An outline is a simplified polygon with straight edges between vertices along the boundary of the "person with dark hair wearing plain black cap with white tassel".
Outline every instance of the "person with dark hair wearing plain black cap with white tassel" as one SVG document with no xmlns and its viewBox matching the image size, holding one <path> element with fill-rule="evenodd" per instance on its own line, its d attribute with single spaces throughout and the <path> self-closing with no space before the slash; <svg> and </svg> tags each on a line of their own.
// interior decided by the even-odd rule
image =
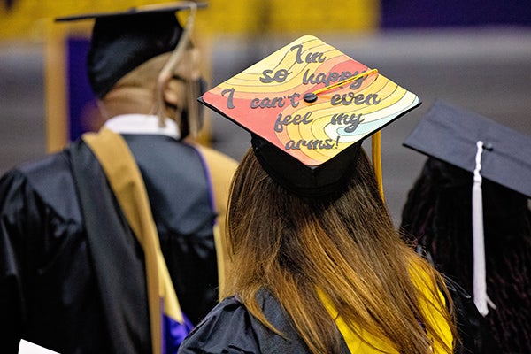
<svg viewBox="0 0 531 354">
<path fill-rule="evenodd" d="M 438 100 L 404 145 L 428 157 L 404 235 L 473 296 L 501 352 L 531 352 L 531 138 Z"/>
</svg>

